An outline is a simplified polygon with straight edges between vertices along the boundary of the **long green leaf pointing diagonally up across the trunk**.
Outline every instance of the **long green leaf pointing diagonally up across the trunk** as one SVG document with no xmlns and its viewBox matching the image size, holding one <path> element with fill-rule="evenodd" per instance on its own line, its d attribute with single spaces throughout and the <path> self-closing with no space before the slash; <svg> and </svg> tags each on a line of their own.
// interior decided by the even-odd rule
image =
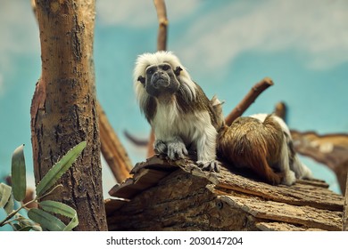
<svg viewBox="0 0 348 249">
<path fill-rule="evenodd" d="M 37 184 L 37 197 L 41 197 L 48 189 L 54 186 L 54 183 L 70 168 L 82 150 L 86 148 L 86 144 L 86 141 L 81 141 L 46 173 L 44 178 Z"/>
</svg>

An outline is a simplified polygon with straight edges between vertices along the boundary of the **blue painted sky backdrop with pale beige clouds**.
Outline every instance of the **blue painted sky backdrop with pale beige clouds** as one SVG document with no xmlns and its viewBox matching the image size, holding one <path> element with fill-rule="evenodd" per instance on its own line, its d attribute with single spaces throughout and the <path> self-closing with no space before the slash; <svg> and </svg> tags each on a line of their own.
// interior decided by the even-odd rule
<svg viewBox="0 0 348 249">
<path fill-rule="evenodd" d="M 2 0 L 0 8 L 0 177 L 10 173 L 12 151 L 26 144 L 33 185 L 29 108 L 40 76 L 36 20 L 28 0 Z M 168 49 L 175 52 L 208 97 L 236 106 L 263 77 L 275 85 L 245 115 L 271 112 L 282 100 L 290 128 L 347 133 L 348 2 L 168 0 Z M 137 55 L 154 52 L 157 16 L 150 0 L 96 1 L 97 98 L 133 163 L 145 159 L 123 132 L 146 139 L 150 128 L 134 98 Z M 314 176 L 339 192 L 334 173 L 302 157 Z M 114 185 L 104 166 L 104 192 Z"/>
</svg>

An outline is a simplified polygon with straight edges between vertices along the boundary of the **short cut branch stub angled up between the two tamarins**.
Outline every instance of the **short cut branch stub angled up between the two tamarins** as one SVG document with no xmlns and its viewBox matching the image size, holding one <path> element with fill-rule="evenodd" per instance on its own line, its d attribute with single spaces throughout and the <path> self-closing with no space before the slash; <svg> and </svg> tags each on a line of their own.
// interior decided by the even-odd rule
<svg viewBox="0 0 348 249">
<path fill-rule="evenodd" d="M 248 94 L 244 97 L 242 101 L 239 102 L 239 104 L 234 108 L 226 117 L 225 122 L 229 126 L 233 123 L 233 121 L 236 120 L 238 116 L 242 116 L 244 111 L 249 108 L 253 101 L 256 100 L 256 98 L 269 88 L 269 86 L 273 85 L 273 81 L 269 77 L 265 77 L 261 80 L 261 82 L 255 84 L 253 88 L 248 92 Z"/>
</svg>

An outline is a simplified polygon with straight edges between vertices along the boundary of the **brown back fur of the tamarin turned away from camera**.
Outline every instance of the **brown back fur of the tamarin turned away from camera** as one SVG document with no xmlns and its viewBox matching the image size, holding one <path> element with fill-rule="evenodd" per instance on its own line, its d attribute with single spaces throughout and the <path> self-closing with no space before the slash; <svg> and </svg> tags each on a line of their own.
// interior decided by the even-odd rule
<svg viewBox="0 0 348 249">
<path fill-rule="evenodd" d="M 265 121 L 238 117 L 224 126 L 218 135 L 218 156 L 236 167 L 248 167 L 270 184 L 279 184 L 283 173 L 277 173 L 284 134 L 272 116 Z"/>
</svg>

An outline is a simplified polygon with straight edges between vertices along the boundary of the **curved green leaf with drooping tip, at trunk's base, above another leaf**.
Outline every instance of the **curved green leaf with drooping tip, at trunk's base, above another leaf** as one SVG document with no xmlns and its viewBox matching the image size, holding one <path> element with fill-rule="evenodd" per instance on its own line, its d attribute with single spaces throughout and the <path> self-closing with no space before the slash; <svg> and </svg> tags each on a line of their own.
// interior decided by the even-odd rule
<svg viewBox="0 0 348 249">
<path fill-rule="evenodd" d="M 69 224 L 65 227 L 65 229 L 63 229 L 64 231 L 70 231 L 79 225 L 78 213 L 76 213 L 75 209 L 69 205 L 56 201 L 43 201 L 40 202 L 40 206 L 47 212 L 62 214 L 63 216 L 71 219 Z"/>
</svg>

